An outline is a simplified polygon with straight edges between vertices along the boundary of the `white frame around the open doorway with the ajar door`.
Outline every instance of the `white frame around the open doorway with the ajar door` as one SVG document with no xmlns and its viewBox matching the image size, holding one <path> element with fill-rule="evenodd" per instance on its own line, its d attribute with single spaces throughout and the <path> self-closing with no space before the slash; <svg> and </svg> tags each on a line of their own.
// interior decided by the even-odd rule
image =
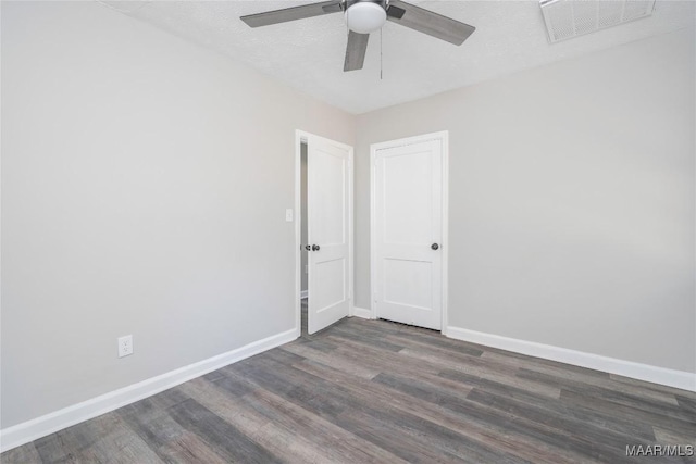
<svg viewBox="0 0 696 464">
<path fill-rule="evenodd" d="M 302 143 L 307 143 L 309 137 L 324 139 L 333 145 L 339 146 L 348 150 L 348 315 L 352 316 L 353 309 L 353 148 L 349 145 L 340 143 L 335 140 L 326 139 L 303 130 L 295 130 L 295 333 L 297 337 L 302 335 Z M 309 150 L 308 150 L 309 151 Z M 308 160 L 309 163 L 309 160 Z M 309 192 L 308 192 L 309 193 Z M 309 202 L 309 198 L 308 198 Z M 309 217 L 308 217 L 309 221 Z M 310 294 L 309 298 L 312 298 Z"/>
</svg>

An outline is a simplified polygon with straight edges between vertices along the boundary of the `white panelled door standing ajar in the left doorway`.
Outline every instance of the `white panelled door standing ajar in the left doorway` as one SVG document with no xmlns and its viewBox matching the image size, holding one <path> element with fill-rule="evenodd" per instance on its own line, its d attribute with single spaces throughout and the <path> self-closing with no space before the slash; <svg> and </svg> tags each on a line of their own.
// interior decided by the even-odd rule
<svg viewBox="0 0 696 464">
<path fill-rule="evenodd" d="M 307 331 L 313 334 L 350 313 L 352 148 L 308 136 L 307 149 Z"/>
</svg>

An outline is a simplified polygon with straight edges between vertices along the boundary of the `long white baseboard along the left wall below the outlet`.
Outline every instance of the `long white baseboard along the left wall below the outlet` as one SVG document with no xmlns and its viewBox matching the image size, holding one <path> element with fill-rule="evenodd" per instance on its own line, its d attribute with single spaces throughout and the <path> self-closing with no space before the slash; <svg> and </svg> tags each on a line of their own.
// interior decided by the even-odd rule
<svg viewBox="0 0 696 464">
<path fill-rule="evenodd" d="M 46 437 L 58 430 L 73 426 L 80 422 L 97 417 L 110 411 L 151 397 L 187 380 L 212 371 L 236 363 L 254 354 L 293 341 L 297 338 L 297 330 L 291 329 L 262 340 L 254 341 L 226 353 L 199 361 L 194 364 L 167 372 L 157 377 L 129 385 L 119 390 L 110 391 L 87 401 L 64 407 L 44 416 L 14 425 L 0 430 L 0 452 L 28 443 Z"/>
</svg>

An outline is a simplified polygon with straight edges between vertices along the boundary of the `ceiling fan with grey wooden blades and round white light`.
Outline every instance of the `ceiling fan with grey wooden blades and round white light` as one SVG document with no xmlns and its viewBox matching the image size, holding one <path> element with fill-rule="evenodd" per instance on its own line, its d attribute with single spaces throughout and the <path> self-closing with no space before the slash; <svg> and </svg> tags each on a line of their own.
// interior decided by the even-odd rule
<svg viewBox="0 0 696 464">
<path fill-rule="evenodd" d="M 370 33 L 381 29 L 387 20 L 456 46 L 462 45 L 476 29 L 400 0 L 331 0 L 249 14 L 240 20 L 251 27 L 260 27 L 339 12 L 344 13 L 349 29 L 344 71 L 362 70 Z"/>
</svg>

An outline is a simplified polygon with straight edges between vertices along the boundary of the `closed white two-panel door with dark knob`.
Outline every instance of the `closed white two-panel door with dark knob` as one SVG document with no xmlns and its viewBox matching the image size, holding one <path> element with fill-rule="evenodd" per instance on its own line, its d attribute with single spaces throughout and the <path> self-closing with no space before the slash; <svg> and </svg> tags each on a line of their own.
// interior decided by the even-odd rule
<svg viewBox="0 0 696 464">
<path fill-rule="evenodd" d="M 443 327 L 443 139 L 373 148 L 376 316 Z"/>
</svg>

